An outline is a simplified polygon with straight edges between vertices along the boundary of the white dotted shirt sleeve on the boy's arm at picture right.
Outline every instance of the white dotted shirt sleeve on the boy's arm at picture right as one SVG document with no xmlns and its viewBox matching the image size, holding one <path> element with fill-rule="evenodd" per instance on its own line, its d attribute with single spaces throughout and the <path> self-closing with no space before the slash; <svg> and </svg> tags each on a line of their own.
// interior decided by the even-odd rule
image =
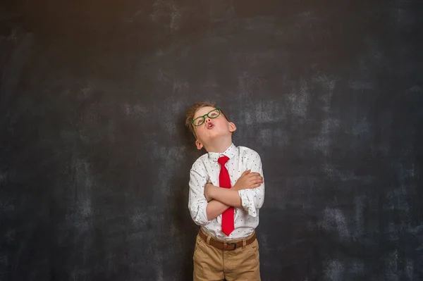
<svg viewBox="0 0 423 281">
<path fill-rule="evenodd" d="M 252 160 L 247 162 L 247 170 L 251 170 L 251 173 L 259 173 L 264 178 L 262 160 L 259 154 L 252 156 Z M 259 187 L 253 189 L 240 189 L 238 190 L 238 194 L 240 195 L 241 204 L 244 210 L 248 212 L 248 215 L 256 217 L 257 210 L 262 208 L 264 203 L 264 181 Z"/>
</svg>

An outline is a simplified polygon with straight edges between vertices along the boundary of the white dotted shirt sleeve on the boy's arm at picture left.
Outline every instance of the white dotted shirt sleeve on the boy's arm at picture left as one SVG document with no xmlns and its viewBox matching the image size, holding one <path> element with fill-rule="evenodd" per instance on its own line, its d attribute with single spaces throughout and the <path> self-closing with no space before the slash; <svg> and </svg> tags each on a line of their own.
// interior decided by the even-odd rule
<svg viewBox="0 0 423 281">
<path fill-rule="evenodd" d="M 191 218 L 197 225 L 207 225 L 207 199 L 204 196 L 204 185 L 207 183 L 207 174 L 200 165 L 194 163 L 190 171 L 190 193 L 188 208 Z"/>
</svg>

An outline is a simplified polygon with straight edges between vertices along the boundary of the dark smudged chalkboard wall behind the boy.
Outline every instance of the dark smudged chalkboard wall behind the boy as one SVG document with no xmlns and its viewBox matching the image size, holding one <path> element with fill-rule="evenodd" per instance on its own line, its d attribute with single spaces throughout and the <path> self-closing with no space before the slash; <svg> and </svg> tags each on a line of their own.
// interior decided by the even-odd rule
<svg viewBox="0 0 423 281">
<path fill-rule="evenodd" d="M 202 99 L 262 156 L 263 280 L 423 280 L 422 1 L 0 10 L 0 280 L 192 279 Z"/>
</svg>

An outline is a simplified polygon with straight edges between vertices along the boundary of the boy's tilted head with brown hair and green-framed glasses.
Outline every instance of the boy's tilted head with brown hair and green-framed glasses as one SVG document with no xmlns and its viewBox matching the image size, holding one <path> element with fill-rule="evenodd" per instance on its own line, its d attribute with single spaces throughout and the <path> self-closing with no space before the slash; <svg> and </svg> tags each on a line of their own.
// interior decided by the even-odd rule
<svg viewBox="0 0 423 281">
<path fill-rule="evenodd" d="M 209 101 L 193 104 L 186 112 L 185 125 L 194 134 L 197 149 L 204 147 L 207 151 L 231 145 L 232 133 L 236 130 L 235 124 Z"/>
</svg>

